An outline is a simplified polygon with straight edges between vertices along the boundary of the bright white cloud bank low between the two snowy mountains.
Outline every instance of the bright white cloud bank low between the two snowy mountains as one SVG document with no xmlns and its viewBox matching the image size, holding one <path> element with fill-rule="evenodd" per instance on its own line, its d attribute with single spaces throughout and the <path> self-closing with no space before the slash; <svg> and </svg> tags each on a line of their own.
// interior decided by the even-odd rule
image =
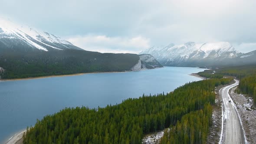
<svg viewBox="0 0 256 144">
<path fill-rule="evenodd" d="M 85 35 L 70 37 L 68 41 L 82 49 L 97 52 L 138 53 L 150 47 L 150 40 L 141 36 L 128 38 Z"/>
</svg>

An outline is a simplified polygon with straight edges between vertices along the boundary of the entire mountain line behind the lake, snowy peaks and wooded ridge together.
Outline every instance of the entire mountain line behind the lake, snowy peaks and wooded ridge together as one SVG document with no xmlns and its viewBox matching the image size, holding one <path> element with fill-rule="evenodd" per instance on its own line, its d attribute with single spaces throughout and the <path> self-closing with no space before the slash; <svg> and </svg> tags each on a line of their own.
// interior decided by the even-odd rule
<svg viewBox="0 0 256 144">
<path fill-rule="evenodd" d="M 0 75 L 6 79 L 136 71 L 162 65 L 207 68 L 247 65 L 256 63 L 255 55 L 256 51 L 239 52 L 228 42 L 171 43 L 153 46 L 139 55 L 90 52 L 59 36 L 0 18 Z"/>
</svg>

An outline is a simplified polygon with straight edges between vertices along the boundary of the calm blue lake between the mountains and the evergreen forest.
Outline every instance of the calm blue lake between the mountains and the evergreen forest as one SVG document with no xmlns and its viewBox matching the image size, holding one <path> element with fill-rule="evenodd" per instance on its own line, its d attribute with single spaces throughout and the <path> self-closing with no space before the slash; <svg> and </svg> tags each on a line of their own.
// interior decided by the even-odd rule
<svg viewBox="0 0 256 144">
<path fill-rule="evenodd" d="M 190 73 L 204 69 L 164 67 L 138 72 L 96 73 L 0 82 L 0 143 L 34 125 L 36 119 L 65 107 L 105 107 L 145 93 L 171 92 L 186 82 L 198 81 Z"/>
</svg>

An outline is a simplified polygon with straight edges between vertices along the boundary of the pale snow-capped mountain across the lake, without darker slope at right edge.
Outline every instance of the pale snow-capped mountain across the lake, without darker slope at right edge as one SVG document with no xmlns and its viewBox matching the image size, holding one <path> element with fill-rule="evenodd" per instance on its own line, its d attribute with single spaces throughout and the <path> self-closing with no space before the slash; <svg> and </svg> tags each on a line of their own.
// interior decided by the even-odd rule
<svg viewBox="0 0 256 144">
<path fill-rule="evenodd" d="M 171 43 L 162 48 L 153 46 L 140 54 L 151 54 L 165 66 L 201 66 L 197 63 L 216 62 L 242 55 L 228 42 L 188 42 L 181 45 Z"/>
</svg>

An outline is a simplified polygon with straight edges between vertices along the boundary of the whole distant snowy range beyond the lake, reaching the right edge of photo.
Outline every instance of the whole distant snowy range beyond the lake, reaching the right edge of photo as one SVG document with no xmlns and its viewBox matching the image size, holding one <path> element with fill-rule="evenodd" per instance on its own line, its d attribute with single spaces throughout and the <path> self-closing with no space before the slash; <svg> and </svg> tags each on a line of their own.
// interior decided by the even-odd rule
<svg viewBox="0 0 256 144">
<path fill-rule="evenodd" d="M 213 67 L 242 65 L 255 61 L 255 52 L 243 54 L 228 42 L 188 42 L 181 45 L 153 46 L 140 54 L 151 54 L 164 66 Z"/>
</svg>

